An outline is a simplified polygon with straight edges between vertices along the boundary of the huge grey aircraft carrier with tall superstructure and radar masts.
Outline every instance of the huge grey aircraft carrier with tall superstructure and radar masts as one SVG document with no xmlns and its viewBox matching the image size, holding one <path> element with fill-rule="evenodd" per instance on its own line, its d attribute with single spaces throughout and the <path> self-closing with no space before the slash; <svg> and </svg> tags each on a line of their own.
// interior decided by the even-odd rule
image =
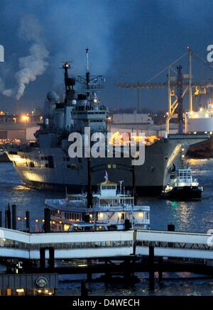
<svg viewBox="0 0 213 310">
<path fill-rule="evenodd" d="M 13 145 L 6 150 L 9 159 L 23 182 L 38 189 L 55 189 L 81 192 L 87 189 L 87 158 L 70 158 L 68 136 L 72 132 L 84 133 L 89 126 L 91 133 L 107 135 L 108 109 L 100 104 L 97 90 L 104 78 L 89 73 L 88 50 L 85 76 L 70 77 L 70 64 L 63 65 L 65 99 L 61 102 L 55 92 L 49 92 L 45 101 L 44 121 L 35 133 L 35 143 Z M 75 84 L 84 86 L 77 94 Z M 207 140 L 208 135 L 168 135 L 151 145 L 146 145 L 145 162 L 135 166 L 133 176 L 131 157 L 92 158 L 92 189 L 102 182 L 104 170 L 114 182 L 124 181 L 131 188 L 135 177 L 138 195 L 159 194 L 168 184 L 170 172 L 179 166 L 190 145 Z M 99 169 L 95 169 L 99 167 Z"/>
</svg>

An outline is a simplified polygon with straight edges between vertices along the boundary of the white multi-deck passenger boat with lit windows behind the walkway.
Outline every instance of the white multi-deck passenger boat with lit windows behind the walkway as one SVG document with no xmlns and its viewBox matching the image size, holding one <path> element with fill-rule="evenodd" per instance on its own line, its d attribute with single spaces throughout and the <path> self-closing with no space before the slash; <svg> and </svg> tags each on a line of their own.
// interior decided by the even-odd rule
<svg viewBox="0 0 213 310">
<path fill-rule="evenodd" d="M 87 194 L 66 194 L 65 199 L 46 199 L 50 209 L 51 231 L 112 231 L 150 227 L 150 206 L 134 203 L 134 196 L 121 181 L 105 181 L 92 194 L 92 208 Z"/>
</svg>

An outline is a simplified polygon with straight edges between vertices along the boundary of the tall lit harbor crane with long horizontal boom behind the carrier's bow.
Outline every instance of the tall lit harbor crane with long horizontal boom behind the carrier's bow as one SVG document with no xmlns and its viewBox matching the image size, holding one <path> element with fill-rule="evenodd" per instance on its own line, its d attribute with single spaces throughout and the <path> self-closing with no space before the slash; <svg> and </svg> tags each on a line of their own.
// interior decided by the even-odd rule
<svg viewBox="0 0 213 310">
<path fill-rule="evenodd" d="M 140 89 L 168 89 L 168 112 L 166 114 L 166 131 L 170 132 L 170 119 L 178 116 L 178 128 L 179 133 L 182 133 L 183 127 L 183 98 L 186 94 L 189 94 L 189 111 L 193 111 L 193 96 L 199 96 L 200 94 L 207 94 L 207 89 L 213 88 L 212 82 L 194 82 L 192 80 L 192 55 L 198 60 L 202 61 L 204 65 L 207 65 L 210 69 L 213 69 L 209 62 L 205 61 L 197 55 L 197 53 L 192 52 L 190 47 L 187 47 L 187 52 L 182 56 L 178 57 L 170 65 L 165 67 L 163 70 L 155 74 L 154 77 L 148 80 L 148 82 L 137 82 L 137 83 L 117 83 L 116 87 L 126 88 L 126 89 L 137 89 L 138 90 L 138 110 L 140 101 Z M 183 57 L 188 57 L 188 67 L 189 72 L 187 74 L 182 74 L 181 66 L 177 67 L 177 70 L 173 68 L 177 62 L 179 62 Z M 166 82 L 153 82 L 153 79 L 158 77 L 165 71 L 168 71 Z M 175 72 L 175 76 L 171 75 L 171 71 Z M 180 96 L 181 92 L 181 96 Z"/>
</svg>

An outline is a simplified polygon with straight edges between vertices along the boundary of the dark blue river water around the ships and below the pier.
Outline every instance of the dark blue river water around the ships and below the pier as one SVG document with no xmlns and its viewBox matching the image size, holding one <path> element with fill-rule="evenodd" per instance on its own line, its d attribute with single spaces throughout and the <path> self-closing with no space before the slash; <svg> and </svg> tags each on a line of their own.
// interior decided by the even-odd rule
<svg viewBox="0 0 213 310">
<path fill-rule="evenodd" d="M 190 231 L 206 233 L 213 228 L 213 159 L 188 160 L 194 177 L 204 187 L 202 201 L 176 202 L 166 201 L 157 197 L 142 197 L 138 203 L 151 206 L 151 229 L 166 230 L 168 223 L 175 224 L 175 231 Z M 18 227 L 24 228 L 26 210 L 31 214 L 32 229 L 40 228 L 43 219 L 44 200 L 62 198 L 62 192 L 47 192 L 29 189 L 24 185 L 13 170 L 11 163 L 0 163 L 0 209 L 3 211 L 8 203 L 17 205 Z M 209 295 L 213 294 L 213 283 L 210 279 L 182 275 L 164 275 L 161 284 L 156 283 L 155 291 L 148 289 L 147 275 L 138 277 L 136 284 L 105 284 L 103 282 L 90 282 L 89 294 L 96 295 Z M 57 294 L 80 294 L 80 279 L 75 276 L 60 276 Z"/>
</svg>

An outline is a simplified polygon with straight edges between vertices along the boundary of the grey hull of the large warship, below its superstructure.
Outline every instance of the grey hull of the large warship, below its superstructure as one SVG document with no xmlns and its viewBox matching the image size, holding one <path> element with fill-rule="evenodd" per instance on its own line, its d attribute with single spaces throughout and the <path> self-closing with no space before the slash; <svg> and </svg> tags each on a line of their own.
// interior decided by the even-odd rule
<svg viewBox="0 0 213 310">
<path fill-rule="evenodd" d="M 168 184 L 170 171 L 180 165 L 190 145 L 206 140 L 207 135 L 170 135 L 146 146 L 145 162 L 135 166 L 136 192 L 138 196 L 158 195 Z M 45 147 L 18 147 L 6 150 L 9 159 L 29 187 L 37 189 L 69 190 L 81 192 L 87 190 L 87 158 L 70 158 L 68 141 L 63 147 L 51 148 L 48 135 Z M 44 145 L 44 144 L 43 144 Z M 105 170 L 114 182 L 124 181 L 126 189 L 131 189 L 133 174 L 131 158 L 92 158 L 92 189 L 102 182 Z"/>
</svg>

